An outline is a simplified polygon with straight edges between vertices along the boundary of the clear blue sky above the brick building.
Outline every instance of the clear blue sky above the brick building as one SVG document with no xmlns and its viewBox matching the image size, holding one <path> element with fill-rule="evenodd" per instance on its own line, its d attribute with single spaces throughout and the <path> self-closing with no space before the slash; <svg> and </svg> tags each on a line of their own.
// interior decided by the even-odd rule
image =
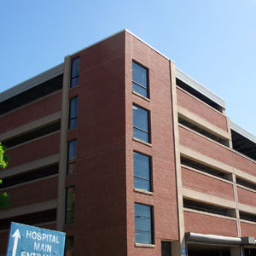
<svg viewBox="0 0 256 256">
<path fill-rule="evenodd" d="M 256 0 L 10 0 L 0 3 L 0 91 L 123 28 L 226 102 L 256 135 Z"/>
</svg>

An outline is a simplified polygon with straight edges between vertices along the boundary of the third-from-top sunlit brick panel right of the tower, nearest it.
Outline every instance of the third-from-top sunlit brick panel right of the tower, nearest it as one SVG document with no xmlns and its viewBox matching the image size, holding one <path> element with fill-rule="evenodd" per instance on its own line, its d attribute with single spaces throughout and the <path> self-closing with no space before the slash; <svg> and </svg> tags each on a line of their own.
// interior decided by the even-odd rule
<svg viewBox="0 0 256 256">
<path fill-rule="evenodd" d="M 182 167 L 183 187 L 234 201 L 233 185 Z"/>
</svg>

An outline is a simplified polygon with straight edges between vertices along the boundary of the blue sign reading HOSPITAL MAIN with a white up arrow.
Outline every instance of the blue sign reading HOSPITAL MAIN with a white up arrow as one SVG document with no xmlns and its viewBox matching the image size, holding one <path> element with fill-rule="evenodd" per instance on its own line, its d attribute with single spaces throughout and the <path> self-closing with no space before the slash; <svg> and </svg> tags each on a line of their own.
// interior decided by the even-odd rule
<svg viewBox="0 0 256 256">
<path fill-rule="evenodd" d="M 7 256 L 63 256 L 66 234 L 11 223 Z"/>
</svg>

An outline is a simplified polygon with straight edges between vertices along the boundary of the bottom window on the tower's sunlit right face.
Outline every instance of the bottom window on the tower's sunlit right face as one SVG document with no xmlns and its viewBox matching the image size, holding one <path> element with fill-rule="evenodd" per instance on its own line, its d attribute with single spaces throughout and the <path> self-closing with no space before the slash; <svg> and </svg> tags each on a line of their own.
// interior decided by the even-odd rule
<svg viewBox="0 0 256 256">
<path fill-rule="evenodd" d="M 153 208 L 135 203 L 135 241 L 153 244 Z"/>
</svg>

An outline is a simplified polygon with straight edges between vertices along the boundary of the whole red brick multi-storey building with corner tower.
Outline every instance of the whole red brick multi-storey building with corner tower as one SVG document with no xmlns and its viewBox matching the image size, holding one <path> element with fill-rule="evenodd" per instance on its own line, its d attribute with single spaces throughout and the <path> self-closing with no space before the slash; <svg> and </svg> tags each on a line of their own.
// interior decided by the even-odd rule
<svg viewBox="0 0 256 256">
<path fill-rule="evenodd" d="M 0 94 L 10 221 L 67 255 L 256 255 L 256 137 L 126 30 Z"/>
</svg>

